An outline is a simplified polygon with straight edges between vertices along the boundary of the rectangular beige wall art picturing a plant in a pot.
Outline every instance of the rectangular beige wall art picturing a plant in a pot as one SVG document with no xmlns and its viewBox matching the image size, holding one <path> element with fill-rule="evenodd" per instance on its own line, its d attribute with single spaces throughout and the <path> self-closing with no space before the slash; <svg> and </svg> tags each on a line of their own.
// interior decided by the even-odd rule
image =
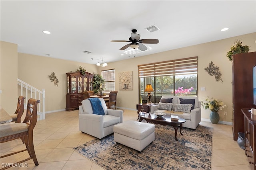
<svg viewBox="0 0 256 170">
<path fill-rule="evenodd" d="M 132 90 L 132 71 L 120 72 L 119 78 L 119 90 Z"/>
</svg>

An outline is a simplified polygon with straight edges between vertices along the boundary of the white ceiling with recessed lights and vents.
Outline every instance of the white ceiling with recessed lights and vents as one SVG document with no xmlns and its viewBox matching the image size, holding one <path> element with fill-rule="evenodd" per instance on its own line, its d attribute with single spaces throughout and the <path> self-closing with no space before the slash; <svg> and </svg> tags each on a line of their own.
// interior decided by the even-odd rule
<svg viewBox="0 0 256 170">
<path fill-rule="evenodd" d="M 0 39 L 18 44 L 19 53 L 90 64 L 97 63 L 91 58 L 107 63 L 133 58 L 121 56 L 126 42 L 110 42 L 128 40 L 132 29 L 140 39 L 159 39 L 144 44 L 152 49 L 135 57 L 256 32 L 255 0 L 1 0 L 0 6 Z M 148 32 L 151 25 L 160 30 Z M 228 31 L 220 31 L 224 27 Z"/>
</svg>

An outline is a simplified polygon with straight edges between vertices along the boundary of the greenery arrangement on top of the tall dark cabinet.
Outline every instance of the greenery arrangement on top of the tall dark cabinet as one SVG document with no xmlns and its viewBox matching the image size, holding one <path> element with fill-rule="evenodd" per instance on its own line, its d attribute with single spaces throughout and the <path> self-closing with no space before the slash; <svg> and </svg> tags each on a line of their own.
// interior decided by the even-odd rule
<svg viewBox="0 0 256 170">
<path fill-rule="evenodd" d="M 227 53 L 227 57 L 229 61 L 233 60 L 232 55 L 234 54 L 240 54 L 240 53 L 248 53 L 249 52 L 249 46 L 242 45 L 242 42 L 240 42 L 240 39 L 236 39 L 234 42 L 234 45 L 231 46 L 230 50 Z"/>
</svg>

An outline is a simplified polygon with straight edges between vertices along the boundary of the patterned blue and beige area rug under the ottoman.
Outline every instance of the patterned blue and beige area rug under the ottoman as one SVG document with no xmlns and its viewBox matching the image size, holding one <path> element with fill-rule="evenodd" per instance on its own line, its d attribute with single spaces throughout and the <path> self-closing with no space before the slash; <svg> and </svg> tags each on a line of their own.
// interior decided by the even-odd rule
<svg viewBox="0 0 256 170">
<path fill-rule="evenodd" d="M 114 142 L 114 135 L 94 139 L 79 147 L 76 152 L 107 170 L 188 170 L 211 169 L 211 127 L 199 125 L 196 130 L 156 125 L 155 140 L 141 153 Z"/>
</svg>

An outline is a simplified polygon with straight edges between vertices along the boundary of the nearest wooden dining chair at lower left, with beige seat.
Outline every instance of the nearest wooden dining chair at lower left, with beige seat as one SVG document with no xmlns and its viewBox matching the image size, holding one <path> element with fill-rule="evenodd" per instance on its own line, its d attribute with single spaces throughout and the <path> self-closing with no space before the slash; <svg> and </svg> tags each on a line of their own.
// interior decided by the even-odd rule
<svg viewBox="0 0 256 170">
<path fill-rule="evenodd" d="M 26 158 L 25 160 L 21 160 L 19 162 L 13 163 L 13 164 L 20 164 L 27 160 L 33 159 L 34 164 L 36 166 L 38 165 L 36 153 L 34 150 L 34 143 L 33 143 L 33 129 L 36 126 L 36 122 L 37 122 L 37 105 L 38 105 L 38 103 L 40 103 L 40 100 L 35 100 L 32 98 L 28 100 L 26 116 L 22 123 L 9 123 L 9 124 L 1 125 L 0 143 L 8 142 L 13 139 L 23 137 L 24 141 L 25 141 L 26 149 L 0 156 L 0 158 L 11 156 L 13 154 L 17 154 L 17 153 L 24 152 L 27 150 L 30 157 Z M 10 166 L 1 168 L 1 170 L 10 168 L 11 165 L 12 164 L 10 164 Z"/>
</svg>

